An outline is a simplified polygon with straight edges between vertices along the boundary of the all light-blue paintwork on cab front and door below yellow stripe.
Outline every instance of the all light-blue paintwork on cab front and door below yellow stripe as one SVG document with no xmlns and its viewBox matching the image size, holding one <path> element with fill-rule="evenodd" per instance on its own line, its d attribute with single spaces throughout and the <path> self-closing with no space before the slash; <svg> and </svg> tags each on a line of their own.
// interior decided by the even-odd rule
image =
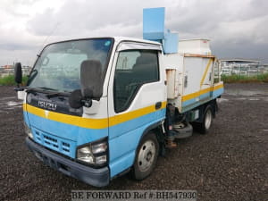
<svg viewBox="0 0 268 201">
<path fill-rule="evenodd" d="M 24 115 L 26 114 L 24 113 Z M 109 164 L 111 177 L 126 170 L 133 164 L 138 142 L 144 130 L 155 122 L 163 120 L 164 116 L 165 109 L 162 109 L 110 128 Z M 73 158 L 75 157 L 77 146 L 108 136 L 108 129 L 84 129 L 58 121 L 51 121 L 32 113 L 28 113 L 28 118 L 36 142 Z M 64 150 L 64 143 L 70 144 L 69 151 Z"/>
</svg>

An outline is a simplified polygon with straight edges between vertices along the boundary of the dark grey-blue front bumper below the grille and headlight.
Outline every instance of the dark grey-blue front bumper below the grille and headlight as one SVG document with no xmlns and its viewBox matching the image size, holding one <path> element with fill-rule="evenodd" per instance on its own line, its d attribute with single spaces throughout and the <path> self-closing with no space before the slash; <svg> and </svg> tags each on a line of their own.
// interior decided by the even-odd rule
<svg viewBox="0 0 268 201">
<path fill-rule="evenodd" d="M 62 155 L 55 154 L 45 147 L 39 146 L 28 137 L 26 138 L 26 145 L 41 161 L 59 172 L 63 172 L 95 187 L 104 187 L 109 184 L 110 172 L 108 167 L 95 169 L 76 163 Z"/>
</svg>

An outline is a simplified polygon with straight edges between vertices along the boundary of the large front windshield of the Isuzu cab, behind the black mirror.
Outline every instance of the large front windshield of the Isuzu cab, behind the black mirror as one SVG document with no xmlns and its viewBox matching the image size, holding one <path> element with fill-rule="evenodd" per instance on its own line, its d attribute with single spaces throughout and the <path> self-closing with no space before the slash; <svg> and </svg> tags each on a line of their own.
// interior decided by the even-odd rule
<svg viewBox="0 0 268 201">
<path fill-rule="evenodd" d="M 80 64 L 98 60 L 102 78 L 112 50 L 112 38 L 93 38 L 60 42 L 46 46 L 29 75 L 30 88 L 71 92 L 80 88 Z"/>
</svg>

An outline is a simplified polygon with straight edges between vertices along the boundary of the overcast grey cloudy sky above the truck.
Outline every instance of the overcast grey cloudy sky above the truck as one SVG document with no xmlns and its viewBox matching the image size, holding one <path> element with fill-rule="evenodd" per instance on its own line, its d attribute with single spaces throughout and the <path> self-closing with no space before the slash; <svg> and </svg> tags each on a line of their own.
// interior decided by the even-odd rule
<svg viewBox="0 0 268 201">
<path fill-rule="evenodd" d="M 218 58 L 268 63 L 267 0 L 1 0 L 0 65 L 32 66 L 59 40 L 142 38 L 143 8 L 152 7 L 165 7 L 165 27 L 180 39 L 209 38 Z"/>
</svg>

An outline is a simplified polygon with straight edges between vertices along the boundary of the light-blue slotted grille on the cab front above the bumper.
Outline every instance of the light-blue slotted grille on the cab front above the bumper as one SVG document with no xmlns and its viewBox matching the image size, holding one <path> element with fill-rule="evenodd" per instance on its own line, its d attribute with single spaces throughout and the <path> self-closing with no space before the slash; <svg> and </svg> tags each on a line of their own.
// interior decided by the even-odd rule
<svg viewBox="0 0 268 201">
<path fill-rule="evenodd" d="M 41 130 L 33 129 L 34 139 L 44 147 L 53 149 L 63 155 L 75 157 L 75 142 L 65 138 L 59 138 L 45 133 Z"/>
</svg>

